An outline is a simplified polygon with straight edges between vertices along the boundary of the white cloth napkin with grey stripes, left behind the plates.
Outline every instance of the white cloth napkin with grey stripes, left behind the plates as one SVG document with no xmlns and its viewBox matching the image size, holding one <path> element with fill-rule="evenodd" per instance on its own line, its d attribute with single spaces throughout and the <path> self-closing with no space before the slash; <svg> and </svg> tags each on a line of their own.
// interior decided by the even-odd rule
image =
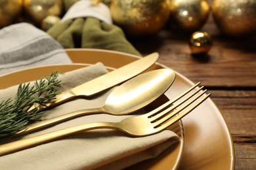
<svg viewBox="0 0 256 170">
<path fill-rule="evenodd" d="M 0 75 L 54 63 L 72 63 L 63 47 L 31 24 L 0 29 Z"/>
</svg>

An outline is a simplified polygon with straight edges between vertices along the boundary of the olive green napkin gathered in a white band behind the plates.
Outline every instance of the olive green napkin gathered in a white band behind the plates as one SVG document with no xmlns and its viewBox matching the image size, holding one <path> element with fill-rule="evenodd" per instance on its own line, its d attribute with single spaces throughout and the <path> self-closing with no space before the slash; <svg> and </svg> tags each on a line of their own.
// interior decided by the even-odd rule
<svg viewBox="0 0 256 170">
<path fill-rule="evenodd" d="M 62 22 L 47 31 L 64 48 L 100 48 L 141 56 L 123 31 L 112 24 L 106 5 L 95 6 L 90 0 L 80 0 L 74 5 L 72 2 L 64 0 L 68 11 Z"/>
</svg>

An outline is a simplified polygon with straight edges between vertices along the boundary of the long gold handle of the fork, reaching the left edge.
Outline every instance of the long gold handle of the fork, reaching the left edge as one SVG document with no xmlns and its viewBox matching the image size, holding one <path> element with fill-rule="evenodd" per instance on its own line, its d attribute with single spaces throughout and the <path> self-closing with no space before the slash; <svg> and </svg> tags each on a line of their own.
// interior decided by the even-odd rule
<svg viewBox="0 0 256 170">
<path fill-rule="evenodd" d="M 5 154 L 11 154 L 22 149 L 31 148 L 32 146 L 37 146 L 39 144 L 54 141 L 55 139 L 60 139 L 61 137 L 66 137 L 75 133 L 82 131 L 89 131 L 92 129 L 119 129 L 118 123 L 115 122 L 94 122 L 89 124 L 82 124 L 79 126 L 68 127 L 66 129 L 61 129 L 58 131 L 53 131 L 50 133 L 45 133 L 43 135 L 38 135 L 35 137 L 30 137 L 27 139 L 21 139 L 7 144 L 0 145 L 0 156 Z"/>
</svg>

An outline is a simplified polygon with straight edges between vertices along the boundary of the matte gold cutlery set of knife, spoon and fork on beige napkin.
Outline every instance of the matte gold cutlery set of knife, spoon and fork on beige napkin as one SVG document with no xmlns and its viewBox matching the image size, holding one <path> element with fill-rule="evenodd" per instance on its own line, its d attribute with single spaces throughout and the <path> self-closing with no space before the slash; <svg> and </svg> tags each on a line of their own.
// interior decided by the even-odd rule
<svg viewBox="0 0 256 170">
<path fill-rule="evenodd" d="M 171 69 L 157 69 L 140 74 L 153 65 L 158 57 L 157 53 L 150 54 L 115 71 L 111 71 L 106 75 L 99 76 L 85 84 L 81 84 L 72 90 L 62 92 L 60 95 L 56 96 L 56 101 L 53 101 L 52 105 L 47 105 L 47 107 L 40 109 L 49 109 L 54 105 L 59 105 L 60 103 L 81 95 L 90 97 L 124 82 L 112 90 L 103 107 L 77 110 L 43 120 L 31 124 L 24 129 L 24 131 L 16 133 L 16 135 L 22 135 L 43 127 L 58 124 L 77 116 L 96 113 L 125 115 L 142 109 L 158 99 L 160 95 L 163 95 L 175 80 L 175 72 Z M 199 84 L 200 83 L 195 84 L 177 97 L 163 103 L 163 105 L 154 110 L 148 111 L 146 114 L 131 116 L 120 122 L 93 122 L 82 124 L 27 139 L 20 139 L 11 143 L 1 144 L 0 156 L 92 129 L 117 129 L 137 137 L 160 133 L 186 116 L 186 114 L 198 107 L 198 105 L 209 97 L 209 93 L 207 95 L 205 94 L 207 90 L 202 90 L 203 86 L 198 87 Z M 37 106 L 35 105 L 34 107 Z"/>
</svg>

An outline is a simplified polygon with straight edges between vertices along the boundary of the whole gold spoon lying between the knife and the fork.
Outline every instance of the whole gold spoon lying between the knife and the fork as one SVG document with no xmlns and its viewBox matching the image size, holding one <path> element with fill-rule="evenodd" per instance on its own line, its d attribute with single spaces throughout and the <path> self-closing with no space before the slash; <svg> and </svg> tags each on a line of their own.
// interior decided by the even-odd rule
<svg viewBox="0 0 256 170">
<path fill-rule="evenodd" d="M 136 76 L 131 80 L 121 84 L 108 95 L 105 104 L 100 108 L 77 110 L 62 116 L 56 116 L 47 120 L 36 122 L 23 131 L 16 133 L 21 135 L 51 126 L 65 120 L 78 116 L 95 113 L 105 113 L 112 115 L 124 115 L 135 112 L 152 103 L 163 94 L 175 80 L 175 73 L 171 69 L 158 69 Z"/>
</svg>

